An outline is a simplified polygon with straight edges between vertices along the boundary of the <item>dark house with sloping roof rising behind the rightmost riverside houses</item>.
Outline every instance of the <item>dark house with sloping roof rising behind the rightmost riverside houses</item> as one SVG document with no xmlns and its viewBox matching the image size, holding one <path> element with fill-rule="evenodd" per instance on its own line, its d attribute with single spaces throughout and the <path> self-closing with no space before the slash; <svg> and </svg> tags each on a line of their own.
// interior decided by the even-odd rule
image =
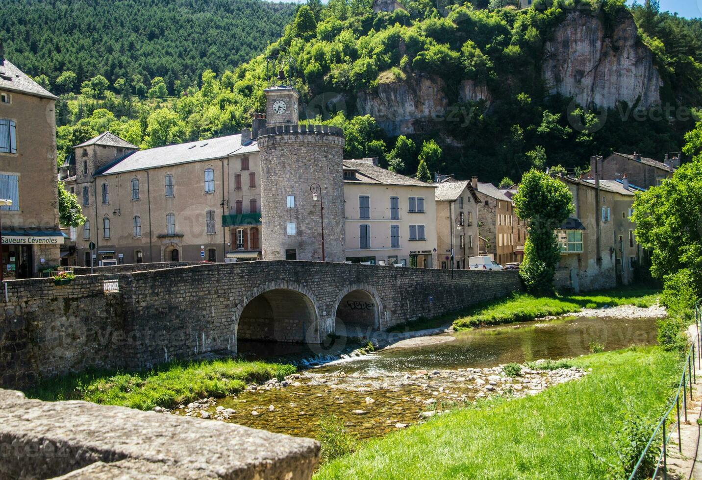
<svg viewBox="0 0 702 480">
<path fill-rule="evenodd" d="M 626 177 L 631 185 L 648 188 L 661 185 L 680 166 L 680 154 L 665 154 L 665 161 L 649 159 L 641 154 L 613 153 L 606 159 L 590 157 L 590 173 L 600 174 L 602 180 L 621 180 Z"/>
</svg>

